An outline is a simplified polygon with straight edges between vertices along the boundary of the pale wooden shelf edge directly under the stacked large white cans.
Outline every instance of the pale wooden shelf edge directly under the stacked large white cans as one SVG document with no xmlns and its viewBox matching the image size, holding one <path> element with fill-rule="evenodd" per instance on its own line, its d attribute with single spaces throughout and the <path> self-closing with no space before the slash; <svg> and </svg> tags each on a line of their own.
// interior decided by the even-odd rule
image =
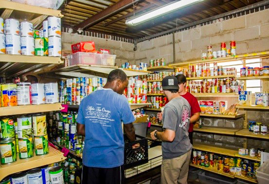
<svg viewBox="0 0 269 184">
<path fill-rule="evenodd" d="M 39 64 L 60 64 L 64 63 L 60 57 L 48 56 L 25 56 L 1 54 L 0 62 L 23 62 L 23 63 L 39 63 Z"/>
</svg>

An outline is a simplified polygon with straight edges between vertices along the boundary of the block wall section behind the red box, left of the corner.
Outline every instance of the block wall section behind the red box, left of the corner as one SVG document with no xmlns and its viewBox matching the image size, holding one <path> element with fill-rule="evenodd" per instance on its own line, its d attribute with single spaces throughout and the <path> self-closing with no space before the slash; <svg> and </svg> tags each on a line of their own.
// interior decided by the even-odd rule
<svg viewBox="0 0 269 184">
<path fill-rule="evenodd" d="M 71 50 L 71 44 L 80 41 L 94 41 L 97 50 L 100 48 L 109 49 L 111 54 L 117 55 L 115 63 L 130 62 L 134 64 L 134 44 L 123 41 L 113 41 L 109 39 L 95 38 L 78 34 L 62 33 L 63 50 Z"/>
</svg>

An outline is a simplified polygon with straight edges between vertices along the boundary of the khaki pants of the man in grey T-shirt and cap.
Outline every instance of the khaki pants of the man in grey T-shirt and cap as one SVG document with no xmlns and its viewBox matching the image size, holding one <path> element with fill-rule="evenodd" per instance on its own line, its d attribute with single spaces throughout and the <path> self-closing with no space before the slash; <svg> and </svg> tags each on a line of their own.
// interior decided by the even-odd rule
<svg viewBox="0 0 269 184">
<path fill-rule="evenodd" d="M 162 159 L 161 184 L 187 184 L 191 151 L 174 159 Z"/>
</svg>

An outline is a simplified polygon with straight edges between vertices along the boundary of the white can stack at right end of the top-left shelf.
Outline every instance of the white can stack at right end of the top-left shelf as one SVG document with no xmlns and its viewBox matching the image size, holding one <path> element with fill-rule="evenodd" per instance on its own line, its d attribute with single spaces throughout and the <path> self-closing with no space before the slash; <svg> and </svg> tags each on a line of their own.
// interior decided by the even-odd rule
<svg viewBox="0 0 269 184">
<path fill-rule="evenodd" d="M 61 57 L 61 19 L 57 17 L 48 17 L 47 22 L 43 23 L 43 33 L 45 40 L 48 39 L 48 56 Z M 47 53 L 45 51 L 45 53 Z"/>
</svg>

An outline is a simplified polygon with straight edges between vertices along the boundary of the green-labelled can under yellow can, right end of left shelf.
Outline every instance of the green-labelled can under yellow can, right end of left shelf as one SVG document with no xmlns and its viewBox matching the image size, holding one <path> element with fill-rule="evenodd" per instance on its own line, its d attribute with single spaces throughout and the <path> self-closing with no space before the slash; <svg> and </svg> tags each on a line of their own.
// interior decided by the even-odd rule
<svg viewBox="0 0 269 184">
<path fill-rule="evenodd" d="M 47 135 L 35 136 L 35 149 L 36 155 L 45 155 L 48 153 L 48 140 Z"/>
</svg>

